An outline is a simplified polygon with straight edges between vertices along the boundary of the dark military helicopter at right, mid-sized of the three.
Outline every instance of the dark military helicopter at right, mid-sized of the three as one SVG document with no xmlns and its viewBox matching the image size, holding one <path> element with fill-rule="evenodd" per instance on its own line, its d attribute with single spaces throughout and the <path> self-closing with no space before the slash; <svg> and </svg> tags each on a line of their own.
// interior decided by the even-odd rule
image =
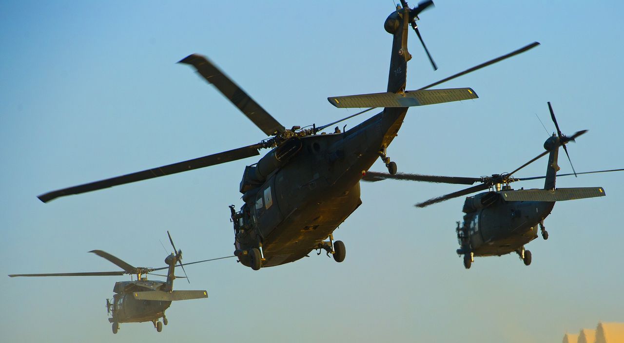
<svg viewBox="0 0 624 343">
<path fill-rule="evenodd" d="M 436 176 L 419 174 L 396 174 L 368 172 L 363 177 L 364 181 L 380 181 L 386 179 L 426 181 L 436 183 L 455 183 L 472 185 L 480 182 L 479 185 L 456 191 L 437 198 L 432 198 L 421 203 L 417 207 L 425 207 L 434 203 L 469 195 L 477 191 L 488 190 L 474 196 L 468 196 L 464 201 L 465 213 L 462 223 L 457 221 L 457 239 L 460 248 L 457 254 L 464 255 L 464 267 L 469 269 L 474 256 L 502 256 L 509 253 L 517 253 L 524 264 L 531 264 L 531 252 L 525 250 L 524 245 L 537 238 L 537 227 L 539 225 L 542 238 L 548 239 L 548 231 L 544 226 L 544 219 L 550 215 L 556 201 L 576 200 L 583 198 L 594 198 L 605 196 L 602 187 L 580 187 L 580 188 L 555 188 L 557 178 L 557 165 L 559 147 L 563 147 L 565 154 L 570 160 L 566 144 L 575 142 L 587 130 L 582 130 L 571 137 L 566 137 L 559 130 L 557 118 L 552 110 L 552 105 L 548 102 L 550 117 L 555 123 L 557 133 L 549 137 L 544 142 L 545 152 L 533 158 L 524 165 L 515 169 L 511 173 L 494 174 L 492 176 L 482 176 L 480 178 L 466 178 L 455 176 Z M 544 155 L 549 154 L 546 176 L 535 176 L 529 178 L 514 178 L 512 175 L 520 169 L 527 167 L 530 163 L 537 161 Z M 572 160 L 570 160 L 572 165 Z M 586 171 L 577 173 L 572 167 L 573 173 L 559 176 L 569 176 L 590 173 L 605 173 L 615 170 Z M 544 178 L 544 188 L 525 190 L 513 190 L 510 183 L 515 181 L 536 180 Z"/>
</svg>

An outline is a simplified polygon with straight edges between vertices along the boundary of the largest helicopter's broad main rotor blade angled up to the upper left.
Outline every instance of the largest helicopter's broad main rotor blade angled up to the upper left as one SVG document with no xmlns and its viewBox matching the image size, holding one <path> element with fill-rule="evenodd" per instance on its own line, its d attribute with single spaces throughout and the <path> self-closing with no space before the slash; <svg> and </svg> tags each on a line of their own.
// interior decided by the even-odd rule
<svg viewBox="0 0 624 343">
<path fill-rule="evenodd" d="M 275 118 L 271 117 L 268 112 L 265 111 L 257 102 L 245 93 L 238 85 L 236 85 L 232 79 L 217 68 L 206 57 L 192 54 L 178 63 L 190 64 L 197 69 L 197 72 L 203 76 L 208 83 L 213 84 L 223 96 L 227 97 L 232 104 L 243 112 L 255 123 L 257 127 L 266 133 L 266 135 L 275 135 L 275 133 L 285 132 L 284 126 L 281 125 Z"/>
</svg>

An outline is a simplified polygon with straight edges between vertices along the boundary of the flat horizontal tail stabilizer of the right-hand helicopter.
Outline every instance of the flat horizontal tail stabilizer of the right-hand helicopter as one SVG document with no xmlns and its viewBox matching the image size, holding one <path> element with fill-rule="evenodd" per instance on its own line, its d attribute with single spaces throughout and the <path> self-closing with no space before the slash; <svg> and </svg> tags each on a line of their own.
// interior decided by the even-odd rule
<svg viewBox="0 0 624 343">
<path fill-rule="evenodd" d="M 500 194 L 507 201 L 564 201 L 605 196 L 602 187 L 557 188 L 555 190 L 510 190 Z"/>
</svg>

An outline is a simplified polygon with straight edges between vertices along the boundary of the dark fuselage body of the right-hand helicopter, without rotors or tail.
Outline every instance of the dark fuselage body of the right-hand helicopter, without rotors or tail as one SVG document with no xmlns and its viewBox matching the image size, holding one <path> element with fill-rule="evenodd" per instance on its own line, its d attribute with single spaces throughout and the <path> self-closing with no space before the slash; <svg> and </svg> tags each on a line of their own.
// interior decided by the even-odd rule
<svg viewBox="0 0 624 343">
<path fill-rule="evenodd" d="M 554 202 L 505 201 L 499 197 L 492 205 L 464 215 L 462 225 L 457 227 L 460 250 L 474 256 L 517 252 L 537 238 L 538 225 L 550 215 L 553 206 Z"/>
</svg>

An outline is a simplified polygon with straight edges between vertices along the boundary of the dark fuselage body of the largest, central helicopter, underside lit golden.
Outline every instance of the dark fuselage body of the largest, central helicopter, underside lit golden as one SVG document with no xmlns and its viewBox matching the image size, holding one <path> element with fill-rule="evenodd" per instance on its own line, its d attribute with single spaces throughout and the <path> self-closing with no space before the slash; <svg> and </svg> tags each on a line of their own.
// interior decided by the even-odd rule
<svg viewBox="0 0 624 343">
<path fill-rule="evenodd" d="M 406 113 L 407 108 L 384 109 L 346 132 L 300 138 L 299 152 L 243 195 L 236 249 L 261 246 L 264 267 L 318 249 L 361 205 L 362 173 L 396 137 Z"/>
</svg>

